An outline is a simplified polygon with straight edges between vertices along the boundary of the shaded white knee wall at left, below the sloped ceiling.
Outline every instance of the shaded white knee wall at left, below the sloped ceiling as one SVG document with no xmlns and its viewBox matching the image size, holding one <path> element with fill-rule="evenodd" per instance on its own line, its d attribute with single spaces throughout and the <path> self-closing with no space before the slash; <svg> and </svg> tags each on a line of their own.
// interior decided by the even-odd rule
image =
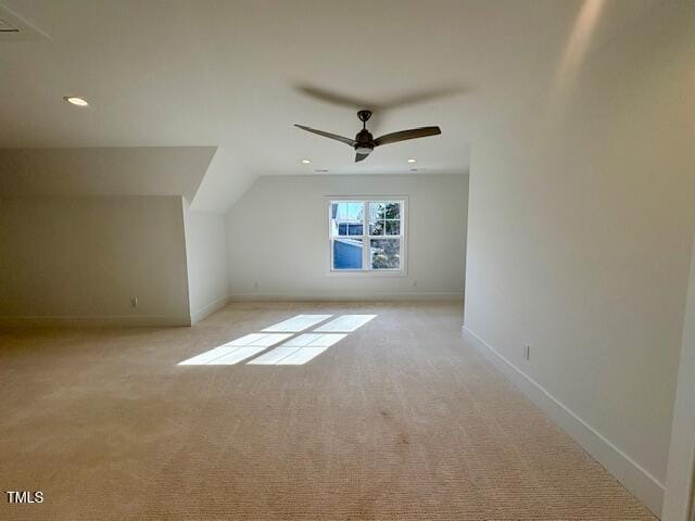
<svg viewBox="0 0 695 521">
<path fill-rule="evenodd" d="M 187 325 L 187 285 L 180 196 L 0 200 L 1 322 Z"/>
</svg>

